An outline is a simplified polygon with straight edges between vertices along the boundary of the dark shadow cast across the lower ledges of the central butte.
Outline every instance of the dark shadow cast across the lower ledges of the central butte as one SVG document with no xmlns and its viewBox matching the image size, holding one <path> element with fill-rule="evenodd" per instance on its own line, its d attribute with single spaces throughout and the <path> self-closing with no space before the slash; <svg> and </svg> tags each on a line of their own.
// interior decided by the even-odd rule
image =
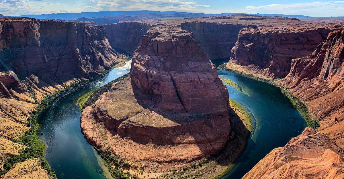
<svg viewBox="0 0 344 179">
<path fill-rule="evenodd" d="M 133 86 L 133 93 L 135 98 L 138 101 L 138 104 L 141 105 L 143 108 L 148 109 L 150 111 L 154 111 L 157 114 L 168 118 L 169 120 L 181 124 L 181 120 L 188 120 L 188 124 L 185 124 L 183 128 L 184 131 L 180 131 L 176 128 L 173 128 L 173 132 L 184 132 L 178 133 L 180 135 L 190 135 L 195 139 L 197 146 L 199 147 L 200 151 L 204 154 L 206 158 L 209 157 L 210 160 L 215 161 L 219 165 L 228 166 L 230 163 L 233 163 L 237 157 L 244 151 L 247 140 L 250 136 L 250 132 L 245 127 L 245 124 L 240 120 L 240 117 L 234 112 L 232 108 L 229 108 L 229 121 L 230 121 L 230 128 L 231 131 L 228 133 L 228 130 L 224 130 L 225 128 L 229 128 L 223 126 L 223 120 L 227 120 L 226 117 L 222 117 L 219 114 L 177 114 L 173 112 L 162 112 L 157 102 L 159 101 L 159 97 L 153 95 L 147 95 L 142 93 L 138 90 L 134 85 Z M 180 118 L 179 118 L 180 116 Z M 154 119 L 151 119 L 154 120 Z M 192 123 L 194 121 L 201 121 L 200 123 Z M 192 124 L 189 125 L 189 122 Z M 226 131 L 226 132 L 225 132 Z M 168 131 L 166 135 L 171 134 Z M 168 133 L 167 133 L 168 132 Z M 152 132 L 152 134 L 154 134 Z M 173 133 L 172 133 L 173 134 Z M 214 134 L 217 134 L 216 136 Z M 229 139 L 228 138 L 229 135 Z M 124 136 L 121 136 L 124 137 Z M 151 139 L 159 139 L 160 140 L 150 140 L 144 139 L 144 136 L 141 137 L 140 141 L 135 140 L 137 143 L 141 144 L 148 144 L 154 143 L 156 145 L 175 145 L 181 143 L 172 143 L 171 141 L 166 141 L 165 136 L 150 136 Z M 174 136 L 172 136 L 173 138 Z M 164 139 L 163 139 L 164 138 Z M 170 138 L 170 137 L 167 137 Z M 212 140 L 212 139 L 213 140 Z M 226 144 L 224 145 L 224 142 Z M 222 146 L 224 146 L 222 148 Z M 222 148 L 222 149 L 221 149 Z M 211 155 L 209 155 L 211 154 Z M 201 159 L 201 158 L 198 158 Z"/>
</svg>

